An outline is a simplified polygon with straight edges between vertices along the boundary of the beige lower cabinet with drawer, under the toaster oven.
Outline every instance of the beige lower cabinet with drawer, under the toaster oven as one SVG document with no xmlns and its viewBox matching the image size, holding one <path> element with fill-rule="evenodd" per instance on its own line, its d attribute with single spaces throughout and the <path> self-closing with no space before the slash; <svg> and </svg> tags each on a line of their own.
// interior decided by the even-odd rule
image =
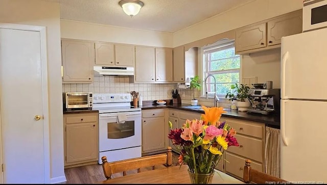
<svg viewBox="0 0 327 185">
<path fill-rule="evenodd" d="M 65 168 L 99 160 L 98 113 L 64 114 Z"/>
</svg>

